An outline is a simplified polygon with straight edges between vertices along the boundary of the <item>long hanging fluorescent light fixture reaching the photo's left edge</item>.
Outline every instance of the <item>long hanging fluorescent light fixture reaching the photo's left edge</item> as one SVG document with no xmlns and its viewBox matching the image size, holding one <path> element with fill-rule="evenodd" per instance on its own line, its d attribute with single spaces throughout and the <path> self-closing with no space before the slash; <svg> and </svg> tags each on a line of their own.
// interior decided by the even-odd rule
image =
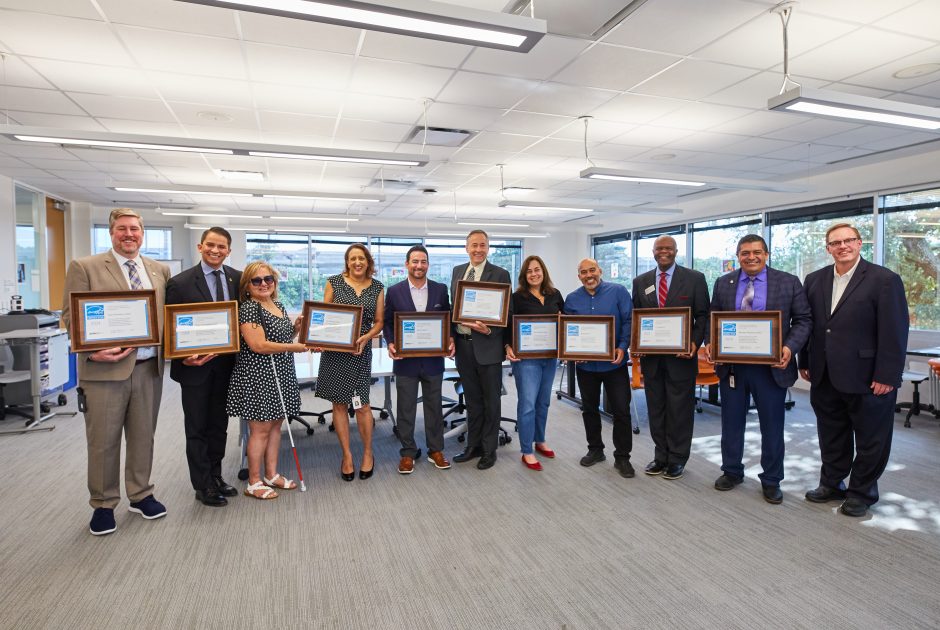
<svg viewBox="0 0 940 630">
<path fill-rule="evenodd" d="M 0 125 L 0 135 L 21 142 L 64 144 L 77 147 L 108 147 L 143 151 L 183 151 L 325 162 L 356 162 L 395 166 L 424 166 L 431 157 L 388 151 L 349 151 L 323 147 L 262 144 L 257 142 L 222 142 L 195 138 L 168 138 L 102 131 L 66 131 L 46 127 Z"/>
</svg>

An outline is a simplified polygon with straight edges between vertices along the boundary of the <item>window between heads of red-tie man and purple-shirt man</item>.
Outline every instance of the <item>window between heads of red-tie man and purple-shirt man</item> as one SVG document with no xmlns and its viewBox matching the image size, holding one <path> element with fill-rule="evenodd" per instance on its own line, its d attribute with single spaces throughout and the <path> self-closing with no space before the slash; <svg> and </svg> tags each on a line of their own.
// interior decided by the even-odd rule
<svg viewBox="0 0 940 630">
<path fill-rule="evenodd" d="M 748 234 L 760 234 L 760 223 L 760 215 L 752 214 L 692 224 L 692 267 L 705 274 L 709 292 L 715 280 L 737 268 L 738 241 Z"/>
</svg>

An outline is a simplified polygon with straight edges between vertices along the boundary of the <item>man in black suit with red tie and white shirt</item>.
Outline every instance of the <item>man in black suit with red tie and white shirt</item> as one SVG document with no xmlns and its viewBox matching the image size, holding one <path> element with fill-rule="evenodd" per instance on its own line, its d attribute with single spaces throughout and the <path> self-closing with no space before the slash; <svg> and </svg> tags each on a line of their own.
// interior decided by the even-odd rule
<svg viewBox="0 0 940 630">
<path fill-rule="evenodd" d="M 692 449 L 695 416 L 695 375 L 698 352 L 708 328 L 708 285 L 705 275 L 676 264 L 676 239 L 660 236 L 653 242 L 656 269 L 633 280 L 633 308 L 691 309 L 692 349 L 688 354 L 639 355 L 650 417 L 650 436 L 656 445 L 647 475 L 678 479 Z"/>
</svg>

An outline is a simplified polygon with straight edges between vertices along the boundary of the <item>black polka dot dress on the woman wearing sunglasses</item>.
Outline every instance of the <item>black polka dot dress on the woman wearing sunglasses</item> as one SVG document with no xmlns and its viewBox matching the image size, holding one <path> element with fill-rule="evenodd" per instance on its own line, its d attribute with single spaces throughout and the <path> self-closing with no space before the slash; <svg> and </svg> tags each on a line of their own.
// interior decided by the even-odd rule
<svg viewBox="0 0 940 630">
<path fill-rule="evenodd" d="M 274 304 L 283 313 L 283 317 L 271 314 L 255 300 L 243 302 L 238 308 L 238 323 L 258 324 L 264 329 L 264 336 L 268 341 L 290 343 L 294 340 L 294 325 L 287 317 L 284 305 L 276 300 Z M 300 388 L 297 386 L 297 373 L 294 371 L 294 353 L 258 354 L 245 343 L 243 337 L 228 388 L 226 409 L 229 416 L 262 422 L 284 417 L 281 399 L 277 395 L 277 384 L 274 382 L 274 371 L 271 369 L 272 356 L 277 366 L 281 394 L 284 396 L 288 415 L 300 411 Z"/>
</svg>

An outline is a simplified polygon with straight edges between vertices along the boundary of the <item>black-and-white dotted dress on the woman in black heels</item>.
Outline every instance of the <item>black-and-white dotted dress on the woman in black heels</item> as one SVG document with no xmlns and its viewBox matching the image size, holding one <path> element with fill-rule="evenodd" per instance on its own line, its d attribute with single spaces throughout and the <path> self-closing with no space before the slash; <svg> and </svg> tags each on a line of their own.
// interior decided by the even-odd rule
<svg viewBox="0 0 940 630">
<path fill-rule="evenodd" d="M 335 304 L 352 304 L 362 307 L 362 328 L 364 335 L 375 323 L 375 308 L 384 285 L 373 278 L 362 295 L 346 284 L 342 275 L 330 276 Z M 335 403 L 350 404 L 355 394 L 362 399 L 363 405 L 369 404 L 369 388 L 372 386 L 372 345 L 366 344 L 362 354 L 356 356 L 349 352 L 324 352 L 320 357 L 320 374 L 317 377 L 317 397 Z"/>
</svg>

